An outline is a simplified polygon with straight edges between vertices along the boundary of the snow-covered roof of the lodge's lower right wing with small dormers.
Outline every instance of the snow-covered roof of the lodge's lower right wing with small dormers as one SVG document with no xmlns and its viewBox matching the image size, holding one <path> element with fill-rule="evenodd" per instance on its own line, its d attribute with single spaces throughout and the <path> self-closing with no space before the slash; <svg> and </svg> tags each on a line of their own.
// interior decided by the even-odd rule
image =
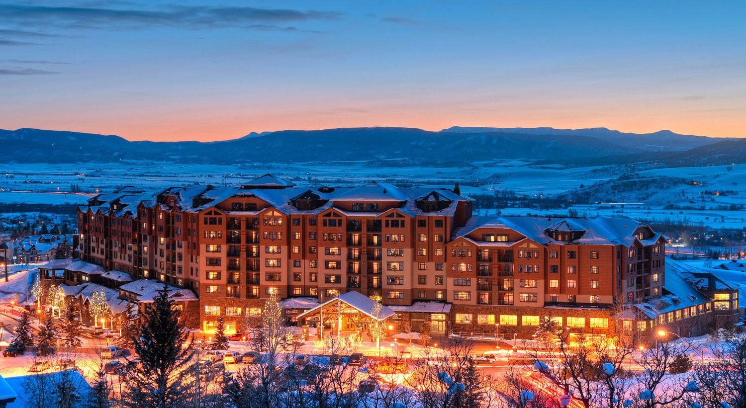
<svg viewBox="0 0 746 408">
<path fill-rule="evenodd" d="M 549 236 L 546 231 L 552 229 L 585 231 L 583 236 L 572 241 L 574 245 L 627 245 L 637 239 L 634 236 L 639 227 L 647 227 L 642 222 L 627 217 L 592 217 L 577 219 L 557 219 L 548 217 L 519 216 L 472 216 L 466 225 L 454 231 L 454 237 L 465 236 L 477 228 L 507 228 L 521 233 L 528 239 L 542 245 L 566 244 Z M 659 239 L 660 234 L 653 236 Z M 480 242 L 482 245 L 482 242 Z"/>
</svg>

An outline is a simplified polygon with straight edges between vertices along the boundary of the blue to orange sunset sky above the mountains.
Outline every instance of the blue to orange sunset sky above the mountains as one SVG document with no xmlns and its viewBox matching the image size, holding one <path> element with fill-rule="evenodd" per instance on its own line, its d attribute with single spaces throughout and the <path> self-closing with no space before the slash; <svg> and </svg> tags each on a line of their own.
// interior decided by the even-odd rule
<svg viewBox="0 0 746 408">
<path fill-rule="evenodd" d="M 744 1 L 10 1 L 4 129 L 746 136 Z"/>
</svg>

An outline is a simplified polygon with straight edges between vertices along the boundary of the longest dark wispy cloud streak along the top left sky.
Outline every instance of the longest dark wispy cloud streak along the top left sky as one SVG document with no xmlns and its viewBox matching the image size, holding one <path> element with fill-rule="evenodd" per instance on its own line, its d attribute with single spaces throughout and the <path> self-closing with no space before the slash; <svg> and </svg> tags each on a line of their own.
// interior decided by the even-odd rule
<svg viewBox="0 0 746 408">
<path fill-rule="evenodd" d="M 171 6 L 151 10 L 139 7 L 49 7 L 0 4 L 0 19 L 24 26 L 113 30 L 157 27 L 241 28 L 247 24 L 271 26 L 288 22 L 339 19 L 341 16 L 341 13 L 334 11 L 259 7 Z"/>
</svg>

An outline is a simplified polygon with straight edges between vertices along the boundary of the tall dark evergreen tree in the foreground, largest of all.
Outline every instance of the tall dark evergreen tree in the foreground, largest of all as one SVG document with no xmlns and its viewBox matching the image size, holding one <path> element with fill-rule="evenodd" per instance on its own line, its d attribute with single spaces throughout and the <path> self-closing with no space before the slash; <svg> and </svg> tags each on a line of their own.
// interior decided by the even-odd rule
<svg viewBox="0 0 746 408">
<path fill-rule="evenodd" d="M 189 401 L 194 380 L 182 371 L 189 368 L 193 350 L 180 317 L 181 310 L 174 307 L 169 288 L 163 285 L 131 337 L 142 363 L 128 381 L 125 405 L 166 408 Z"/>
</svg>

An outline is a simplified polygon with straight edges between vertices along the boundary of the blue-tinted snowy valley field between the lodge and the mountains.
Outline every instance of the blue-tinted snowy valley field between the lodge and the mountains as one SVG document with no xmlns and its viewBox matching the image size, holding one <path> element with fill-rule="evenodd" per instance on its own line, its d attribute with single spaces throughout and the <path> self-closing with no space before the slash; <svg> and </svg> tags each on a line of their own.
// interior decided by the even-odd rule
<svg viewBox="0 0 746 408">
<path fill-rule="evenodd" d="M 378 163 L 380 164 L 380 163 Z M 465 167 L 371 166 L 363 162 L 298 163 L 295 165 L 240 164 L 210 166 L 158 162 L 13 164 L 0 165 L 0 203 L 81 204 L 96 192 L 110 192 L 134 185 L 148 190 L 192 183 L 239 185 L 271 172 L 298 186 L 349 186 L 372 180 L 452 188 L 460 183 L 471 195 L 513 190 L 518 194 L 551 196 L 581 184 L 608 181 L 623 169 L 586 167 L 561 169 L 530 166 L 523 161 L 491 161 Z M 746 210 L 722 210 L 730 204 L 746 204 L 746 164 L 677 169 L 651 169 L 641 176 L 683 178 L 689 183 L 655 192 L 642 204 L 583 204 L 571 206 L 580 216 L 630 216 L 650 222 L 683 222 L 710 227 L 746 227 Z M 73 186 L 83 194 L 72 194 Z M 666 210 L 666 206 L 688 207 Z M 719 207 L 719 208 L 718 208 Z M 481 210 L 496 213 L 497 210 Z M 527 213 L 565 214 L 566 210 L 503 209 L 504 215 Z"/>
</svg>

